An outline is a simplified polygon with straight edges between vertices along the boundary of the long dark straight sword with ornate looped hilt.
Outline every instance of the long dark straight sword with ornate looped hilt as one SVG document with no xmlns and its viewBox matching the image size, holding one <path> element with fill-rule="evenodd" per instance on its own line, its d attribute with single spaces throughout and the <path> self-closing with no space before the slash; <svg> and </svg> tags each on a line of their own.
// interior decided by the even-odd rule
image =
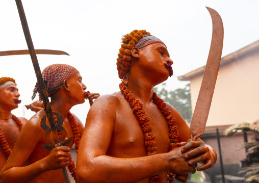
<svg viewBox="0 0 259 183">
<path fill-rule="evenodd" d="M 27 19 L 25 17 L 25 13 L 24 13 L 24 10 L 23 10 L 23 6 L 22 6 L 22 3 L 21 3 L 21 0 L 15 0 L 15 2 L 16 2 L 17 9 L 18 9 L 18 12 L 19 12 L 23 33 L 24 33 L 24 36 L 25 36 L 25 39 L 26 39 L 26 42 L 27 42 L 27 45 L 28 45 L 28 49 L 29 49 L 29 52 L 30 52 L 30 55 L 31 55 L 31 59 L 32 59 L 32 62 L 33 62 L 33 67 L 34 67 L 34 70 L 35 70 L 37 81 L 38 81 L 38 84 L 39 84 L 40 94 L 42 96 L 43 104 L 44 104 L 45 111 L 46 111 L 46 115 L 41 119 L 41 127 L 44 130 L 46 130 L 45 140 L 51 145 L 43 145 L 43 147 L 47 150 L 52 150 L 55 147 L 59 147 L 59 146 L 62 146 L 62 145 L 68 145 L 71 142 L 72 137 L 70 139 L 66 140 L 66 141 L 63 141 L 65 139 L 67 133 L 66 133 L 65 128 L 62 126 L 63 117 L 59 113 L 55 113 L 55 115 L 58 118 L 57 125 L 55 125 L 54 115 L 53 115 L 52 110 L 50 108 L 50 103 L 49 103 L 49 100 L 48 100 L 47 91 L 46 91 L 45 84 L 43 82 L 43 78 L 42 78 L 42 75 L 41 75 L 38 59 L 37 59 L 36 52 L 35 52 L 35 49 L 34 49 L 34 46 L 33 46 L 32 38 L 31 38 L 29 27 L 28 27 Z M 50 128 L 46 124 L 46 117 L 49 121 Z M 60 130 L 60 132 L 61 132 L 61 136 L 62 136 L 61 141 L 59 140 L 57 129 Z M 53 135 L 55 145 L 50 140 L 50 133 L 52 133 L 52 135 Z M 62 171 L 63 171 L 64 177 L 65 177 L 66 183 L 68 183 L 68 182 L 70 183 L 66 167 L 63 167 Z"/>
</svg>

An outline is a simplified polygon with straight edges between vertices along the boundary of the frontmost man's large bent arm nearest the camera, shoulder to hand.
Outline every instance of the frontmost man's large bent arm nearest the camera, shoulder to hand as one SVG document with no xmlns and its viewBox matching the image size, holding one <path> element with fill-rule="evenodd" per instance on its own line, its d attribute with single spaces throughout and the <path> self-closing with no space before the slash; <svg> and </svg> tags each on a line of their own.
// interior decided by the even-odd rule
<svg viewBox="0 0 259 183">
<path fill-rule="evenodd" d="M 115 96 L 103 95 L 89 110 L 77 154 L 76 175 L 79 182 L 134 182 L 166 171 L 178 174 L 180 171 L 182 174 L 195 171 L 188 165 L 180 148 L 140 158 L 106 155 L 116 122 L 117 106 L 120 103 Z"/>
</svg>

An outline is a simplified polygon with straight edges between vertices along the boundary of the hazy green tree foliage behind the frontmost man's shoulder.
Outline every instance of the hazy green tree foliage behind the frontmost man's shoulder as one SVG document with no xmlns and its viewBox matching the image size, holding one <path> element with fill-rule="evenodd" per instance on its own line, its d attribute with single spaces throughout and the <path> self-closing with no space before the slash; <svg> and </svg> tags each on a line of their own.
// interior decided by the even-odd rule
<svg viewBox="0 0 259 183">
<path fill-rule="evenodd" d="M 165 89 L 166 84 L 162 84 L 162 89 L 158 91 L 158 88 L 154 88 L 154 92 L 162 98 L 165 102 L 168 102 L 173 106 L 184 119 L 192 118 L 191 107 L 191 92 L 190 84 L 187 84 L 185 88 L 178 88 L 174 91 L 167 91 Z"/>
</svg>

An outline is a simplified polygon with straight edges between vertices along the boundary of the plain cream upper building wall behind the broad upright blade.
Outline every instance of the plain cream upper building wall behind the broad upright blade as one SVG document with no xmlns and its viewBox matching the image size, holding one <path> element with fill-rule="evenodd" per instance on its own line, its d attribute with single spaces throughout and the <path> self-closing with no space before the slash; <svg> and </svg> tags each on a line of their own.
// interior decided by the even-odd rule
<svg viewBox="0 0 259 183">
<path fill-rule="evenodd" d="M 192 110 L 203 75 L 191 80 Z M 259 52 L 220 67 L 207 126 L 259 119 Z"/>
</svg>

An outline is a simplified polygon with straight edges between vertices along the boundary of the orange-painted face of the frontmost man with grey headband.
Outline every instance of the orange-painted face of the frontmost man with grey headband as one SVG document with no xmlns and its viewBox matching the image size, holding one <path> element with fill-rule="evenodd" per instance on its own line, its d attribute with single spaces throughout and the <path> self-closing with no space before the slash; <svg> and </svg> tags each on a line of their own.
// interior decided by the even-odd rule
<svg viewBox="0 0 259 183">
<path fill-rule="evenodd" d="M 168 79 L 169 69 L 165 64 L 171 66 L 173 61 L 170 59 L 167 47 L 163 43 L 152 43 L 139 50 L 139 61 L 141 70 L 150 79 L 162 83 Z"/>
</svg>

